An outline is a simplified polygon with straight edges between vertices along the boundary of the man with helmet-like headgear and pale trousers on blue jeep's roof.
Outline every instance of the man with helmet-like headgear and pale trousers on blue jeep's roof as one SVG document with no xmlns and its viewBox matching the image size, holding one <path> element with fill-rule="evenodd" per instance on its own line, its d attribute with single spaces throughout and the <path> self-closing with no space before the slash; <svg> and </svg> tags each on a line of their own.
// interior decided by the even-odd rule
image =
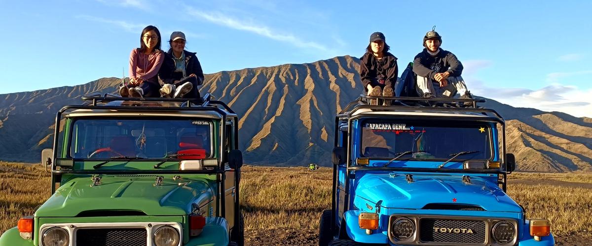
<svg viewBox="0 0 592 246">
<path fill-rule="evenodd" d="M 423 97 L 452 98 L 456 92 L 461 99 L 472 99 L 462 80 L 462 64 L 456 55 L 442 50 L 442 36 L 435 31 L 426 33 L 423 37 L 423 51 L 413 60 L 413 72 L 417 74 L 417 87 Z M 465 103 L 466 105 L 470 103 Z"/>
</svg>

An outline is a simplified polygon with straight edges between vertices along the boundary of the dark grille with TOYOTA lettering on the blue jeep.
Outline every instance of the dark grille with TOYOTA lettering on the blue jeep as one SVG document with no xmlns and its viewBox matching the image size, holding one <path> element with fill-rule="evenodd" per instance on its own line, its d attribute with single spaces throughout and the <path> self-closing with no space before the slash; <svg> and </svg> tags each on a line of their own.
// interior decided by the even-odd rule
<svg viewBox="0 0 592 246">
<path fill-rule="evenodd" d="M 420 219 L 420 241 L 445 244 L 484 244 L 485 222 L 452 219 Z M 446 232 L 435 228 L 446 228 Z M 458 229 L 458 230 L 457 230 Z M 467 233 L 471 229 L 472 233 Z M 449 230 L 451 232 L 449 232 Z M 456 231 L 456 232 L 455 232 Z"/>
</svg>

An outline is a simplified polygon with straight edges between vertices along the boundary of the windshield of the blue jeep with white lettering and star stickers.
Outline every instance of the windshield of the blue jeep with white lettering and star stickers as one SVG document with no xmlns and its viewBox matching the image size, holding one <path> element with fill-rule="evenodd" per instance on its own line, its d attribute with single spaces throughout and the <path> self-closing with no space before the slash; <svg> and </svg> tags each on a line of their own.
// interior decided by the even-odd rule
<svg viewBox="0 0 592 246">
<path fill-rule="evenodd" d="M 410 120 L 362 123 L 361 156 L 397 160 L 446 161 L 491 159 L 491 130 L 487 123 Z M 396 160 L 395 160 L 396 161 Z"/>
</svg>

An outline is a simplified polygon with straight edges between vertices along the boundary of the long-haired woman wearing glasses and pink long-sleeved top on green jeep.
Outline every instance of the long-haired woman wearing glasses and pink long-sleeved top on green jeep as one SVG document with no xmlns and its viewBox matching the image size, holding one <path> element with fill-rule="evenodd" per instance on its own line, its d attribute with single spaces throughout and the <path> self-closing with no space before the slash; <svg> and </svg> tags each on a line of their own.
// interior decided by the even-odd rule
<svg viewBox="0 0 592 246">
<path fill-rule="evenodd" d="M 140 48 L 130 54 L 130 83 L 119 88 L 122 97 L 159 97 L 158 71 L 164 54 L 160 50 L 160 32 L 149 25 L 140 35 Z"/>
</svg>

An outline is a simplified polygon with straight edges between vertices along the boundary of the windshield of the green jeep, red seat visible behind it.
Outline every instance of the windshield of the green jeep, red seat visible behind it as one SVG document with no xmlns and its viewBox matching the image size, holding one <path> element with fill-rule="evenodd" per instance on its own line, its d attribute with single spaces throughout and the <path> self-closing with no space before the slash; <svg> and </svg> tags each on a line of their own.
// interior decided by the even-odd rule
<svg viewBox="0 0 592 246">
<path fill-rule="evenodd" d="M 209 119 L 78 119 L 72 126 L 69 156 L 75 159 L 166 159 L 190 154 L 198 159 L 210 158 L 212 131 Z"/>
</svg>

